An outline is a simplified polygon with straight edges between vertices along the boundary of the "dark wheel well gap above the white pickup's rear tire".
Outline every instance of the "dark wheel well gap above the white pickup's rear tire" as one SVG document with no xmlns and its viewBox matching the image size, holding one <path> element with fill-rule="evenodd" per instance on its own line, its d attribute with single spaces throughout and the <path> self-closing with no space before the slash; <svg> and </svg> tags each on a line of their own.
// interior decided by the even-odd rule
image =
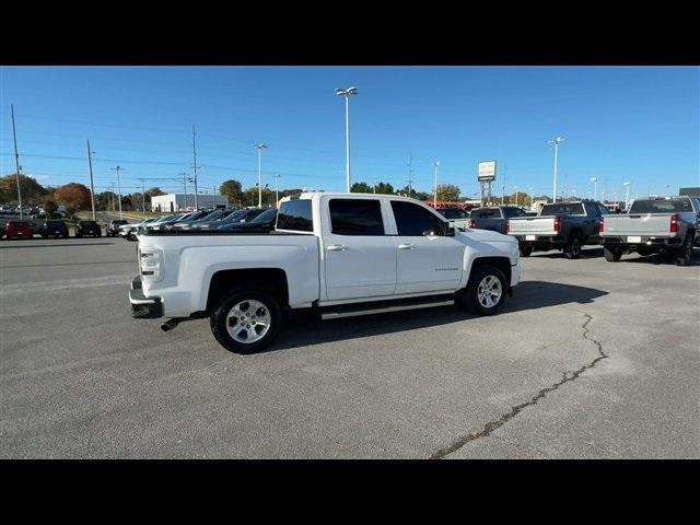
<svg viewBox="0 0 700 525">
<path fill-rule="evenodd" d="M 280 307 L 289 305 L 289 288 L 287 273 L 279 268 L 255 268 L 249 270 L 221 270 L 211 277 L 207 295 L 207 312 L 211 312 L 214 303 L 226 291 L 242 284 L 265 290 L 280 303 Z"/>
</svg>

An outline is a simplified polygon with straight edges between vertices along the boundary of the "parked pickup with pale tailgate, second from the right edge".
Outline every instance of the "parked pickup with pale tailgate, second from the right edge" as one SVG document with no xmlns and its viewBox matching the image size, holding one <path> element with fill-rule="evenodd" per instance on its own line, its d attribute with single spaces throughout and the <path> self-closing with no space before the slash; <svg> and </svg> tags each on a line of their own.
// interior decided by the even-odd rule
<svg viewBox="0 0 700 525">
<path fill-rule="evenodd" d="M 598 244 L 602 218 L 609 214 L 593 200 L 545 205 L 537 217 L 509 219 L 508 234 L 517 238 L 523 257 L 561 249 L 567 258 L 578 259 L 583 246 Z"/>
</svg>

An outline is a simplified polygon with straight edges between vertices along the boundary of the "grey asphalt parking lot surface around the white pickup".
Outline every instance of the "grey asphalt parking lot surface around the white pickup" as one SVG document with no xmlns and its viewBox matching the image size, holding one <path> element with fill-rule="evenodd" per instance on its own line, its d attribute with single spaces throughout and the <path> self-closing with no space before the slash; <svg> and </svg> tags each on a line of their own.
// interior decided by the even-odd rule
<svg viewBox="0 0 700 525">
<path fill-rule="evenodd" d="M 299 320 L 237 355 L 136 320 L 136 243 L 2 241 L 3 458 L 700 457 L 700 249 L 524 260 L 494 317 Z"/>
</svg>

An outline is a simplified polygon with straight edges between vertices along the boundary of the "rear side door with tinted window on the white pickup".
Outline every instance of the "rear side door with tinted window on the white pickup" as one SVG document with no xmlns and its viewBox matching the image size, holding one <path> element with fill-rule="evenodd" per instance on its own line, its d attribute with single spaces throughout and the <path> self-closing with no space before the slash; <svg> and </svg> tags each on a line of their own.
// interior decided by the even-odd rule
<svg viewBox="0 0 700 525">
<path fill-rule="evenodd" d="M 392 295 L 396 243 L 386 235 L 381 199 L 332 198 L 322 207 L 323 258 L 328 301 Z"/>
</svg>

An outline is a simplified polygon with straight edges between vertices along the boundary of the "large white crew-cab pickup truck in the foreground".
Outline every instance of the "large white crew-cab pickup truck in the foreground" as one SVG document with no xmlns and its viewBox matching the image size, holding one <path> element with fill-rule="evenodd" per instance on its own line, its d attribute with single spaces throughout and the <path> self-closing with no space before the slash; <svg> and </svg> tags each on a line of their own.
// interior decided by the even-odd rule
<svg viewBox="0 0 700 525">
<path fill-rule="evenodd" d="M 215 339 L 241 353 L 268 347 L 288 311 L 334 318 L 457 301 L 489 315 L 521 279 L 515 238 L 455 232 L 428 206 L 389 195 L 285 198 L 270 233 L 138 237 L 132 316 L 170 317 L 165 331 L 209 317 Z"/>
</svg>

